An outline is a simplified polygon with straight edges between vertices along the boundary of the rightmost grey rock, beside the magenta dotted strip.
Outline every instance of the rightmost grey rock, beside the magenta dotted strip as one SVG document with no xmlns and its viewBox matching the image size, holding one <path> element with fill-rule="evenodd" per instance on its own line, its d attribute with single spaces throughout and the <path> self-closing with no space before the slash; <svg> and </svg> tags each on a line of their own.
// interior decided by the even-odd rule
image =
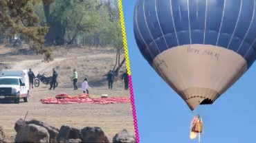
<svg viewBox="0 0 256 143">
<path fill-rule="evenodd" d="M 115 143 L 128 143 L 136 142 L 134 135 L 131 135 L 126 129 L 119 131 L 115 137 L 113 137 L 113 142 Z"/>
</svg>

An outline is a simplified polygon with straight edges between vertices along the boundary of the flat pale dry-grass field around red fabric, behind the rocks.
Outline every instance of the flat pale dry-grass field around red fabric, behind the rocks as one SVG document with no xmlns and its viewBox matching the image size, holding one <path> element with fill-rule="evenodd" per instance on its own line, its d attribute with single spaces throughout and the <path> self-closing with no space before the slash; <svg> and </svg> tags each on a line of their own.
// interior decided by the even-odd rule
<svg viewBox="0 0 256 143">
<path fill-rule="evenodd" d="M 108 90 L 106 87 L 92 88 L 90 92 L 91 98 L 99 97 L 102 93 L 129 97 L 129 93 L 118 87 L 114 90 Z M 8 141 L 13 142 L 13 137 L 16 135 L 15 122 L 19 118 L 24 118 L 27 111 L 26 120 L 40 120 L 59 129 L 63 124 L 80 129 L 85 126 L 99 126 L 110 141 L 122 129 L 134 133 L 131 104 L 42 104 L 39 102 L 42 98 L 54 97 L 61 93 L 78 95 L 81 91 L 66 87 L 58 87 L 50 91 L 46 87 L 37 87 L 31 90 L 30 100 L 27 103 L 21 100 L 19 104 L 0 104 L 0 108 L 4 109 L 0 111 L 0 124 Z"/>
</svg>

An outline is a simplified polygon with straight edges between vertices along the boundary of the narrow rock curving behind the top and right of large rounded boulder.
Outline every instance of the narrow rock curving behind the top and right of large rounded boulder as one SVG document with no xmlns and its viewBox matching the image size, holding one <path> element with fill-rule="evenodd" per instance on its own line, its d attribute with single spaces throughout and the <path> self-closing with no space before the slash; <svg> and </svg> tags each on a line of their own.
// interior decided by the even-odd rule
<svg viewBox="0 0 256 143">
<path fill-rule="evenodd" d="M 56 138 L 59 133 L 59 129 L 55 128 L 54 126 L 49 126 L 48 124 L 41 122 L 39 120 L 30 120 L 27 122 L 27 124 L 36 124 L 38 126 L 44 127 L 50 134 L 50 141 L 56 142 Z"/>
</svg>

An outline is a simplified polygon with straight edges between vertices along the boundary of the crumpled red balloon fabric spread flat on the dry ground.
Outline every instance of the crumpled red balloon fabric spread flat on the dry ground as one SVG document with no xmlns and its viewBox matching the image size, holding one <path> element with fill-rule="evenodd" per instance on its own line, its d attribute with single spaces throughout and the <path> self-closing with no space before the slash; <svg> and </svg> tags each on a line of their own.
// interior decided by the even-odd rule
<svg viewBox="0 0 256 143">
<path fill-rule="evenodd" d="M 68 96 L 60 94 L 55 98 L 45 98 L 40 100 L 43 104 L 71 104 L 71 103 L 91 103 L 91 104 L 110 104 L 110 103 L 127 103 L 130 98 L 109 97 L 109 98 L 89 98 L 88 94 L 79 96 Z"/>
</svg>

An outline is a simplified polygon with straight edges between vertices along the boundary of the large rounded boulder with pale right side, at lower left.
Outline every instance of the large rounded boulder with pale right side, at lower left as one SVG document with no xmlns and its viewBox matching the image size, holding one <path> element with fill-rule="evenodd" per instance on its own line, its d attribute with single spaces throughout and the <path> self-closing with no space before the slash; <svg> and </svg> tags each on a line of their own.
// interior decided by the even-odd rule
<svg viewBox="0 0 256 143">
<path fill-rule="evenodd" d="M 22 127 L 15 137 L 15 142 L 49 142 L 48 131 L 36 124 L 28 124 Z"/>
</svg>

